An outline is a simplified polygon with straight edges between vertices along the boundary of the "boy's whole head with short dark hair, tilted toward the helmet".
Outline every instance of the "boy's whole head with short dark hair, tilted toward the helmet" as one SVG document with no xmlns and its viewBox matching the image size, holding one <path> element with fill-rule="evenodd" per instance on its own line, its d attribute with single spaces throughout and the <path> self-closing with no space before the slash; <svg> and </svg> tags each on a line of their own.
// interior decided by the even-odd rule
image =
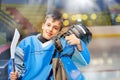
<svg viewBox="0 0 120 80">
<path fill-rule="evenodd" d="M 45 21 L 42 25 L 43 37 L 48 40 L 53 39 L 54 37 L 57 36 L 62 27 L 63 27 L 62 13 L 60 13 L 57 10 L 49 12 L 46 15 Z"/>
</svg>

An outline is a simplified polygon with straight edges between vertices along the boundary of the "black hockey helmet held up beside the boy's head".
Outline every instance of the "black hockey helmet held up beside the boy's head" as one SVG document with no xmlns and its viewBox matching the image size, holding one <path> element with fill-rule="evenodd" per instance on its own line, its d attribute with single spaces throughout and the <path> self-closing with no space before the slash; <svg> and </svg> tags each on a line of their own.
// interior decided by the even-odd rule
<svg viewBox="0 0 120 80">
<path fill-rule="evenodd" d="M 76 37 L 80 38 L 86 44 L 88 44 L 92 40 L 92 33 L 83 24 L 75 24 L 70 26 L 68 31 L 64 33 L 64 37 L 70 34 L 75 34 Z"/>
</svg>

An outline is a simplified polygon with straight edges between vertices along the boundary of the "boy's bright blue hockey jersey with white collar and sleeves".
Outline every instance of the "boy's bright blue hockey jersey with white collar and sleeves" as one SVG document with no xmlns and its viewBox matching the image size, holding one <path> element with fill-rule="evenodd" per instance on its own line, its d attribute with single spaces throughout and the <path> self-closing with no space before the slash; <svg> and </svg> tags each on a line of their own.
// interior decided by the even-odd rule
<svg viewBox="0 0 120 80">
<path fill-rule="evenodd" d="M 71 46 L 64 38 L 61 38 L 63 51 L 60 57 L 72 57 L 77 50 L 76 45 Z M 52 64 L 50 61 L 55 50 L 53 40 L 42 43 L 38 36 L 29 36 L 24 38 L 17 46 L 15 53 L 15 68 L 18 71 L 20 80 L 50 80 Z M 81 56 L 81 65 L 87 65 L 90 62 L 90 53 L 87 46 L 81 41 L 82 51 L 78 54 Z M 56 55 L 57 57 L 57 55 Z"/>
</svg>

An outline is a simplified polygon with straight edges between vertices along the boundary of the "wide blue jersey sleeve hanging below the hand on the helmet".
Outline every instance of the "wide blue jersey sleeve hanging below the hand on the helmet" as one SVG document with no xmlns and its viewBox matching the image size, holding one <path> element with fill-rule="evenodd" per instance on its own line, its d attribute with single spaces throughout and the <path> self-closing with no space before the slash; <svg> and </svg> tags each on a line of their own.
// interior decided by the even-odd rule
<svg viewBox="0 0 120 80">
<path fill-rule="evenodd" d="M 72 56 L 73 62 L 79 66 L 85 66 L 90 63 L 90 52 L 87 45 L 81 40 L 82 50 L 79 51 L 77 48 Z"/>
</svg>

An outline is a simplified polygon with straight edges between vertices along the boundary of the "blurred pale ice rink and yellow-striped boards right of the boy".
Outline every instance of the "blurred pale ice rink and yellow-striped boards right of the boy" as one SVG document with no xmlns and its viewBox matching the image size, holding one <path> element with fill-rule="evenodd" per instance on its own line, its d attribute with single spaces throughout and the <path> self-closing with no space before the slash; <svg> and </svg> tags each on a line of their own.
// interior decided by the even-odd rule
<svg viewBox="0 0 120 80">
<path fill-rule="evenodd" d="M 120 80 L 120 26 L 91 30 L 91 62 L 82 68 L 86 80 Z"/>
</svg>

